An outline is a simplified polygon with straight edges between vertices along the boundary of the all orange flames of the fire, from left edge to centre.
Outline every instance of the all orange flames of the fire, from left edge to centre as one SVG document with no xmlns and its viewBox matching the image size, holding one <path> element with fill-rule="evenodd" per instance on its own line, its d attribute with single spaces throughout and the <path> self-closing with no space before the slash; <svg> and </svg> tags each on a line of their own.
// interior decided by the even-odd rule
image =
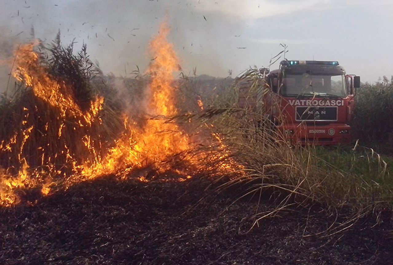
<svg viewBox="0 0 393 265">
<path fill-rule="evenodd" d="M 38 126 L 29 115 L 38 115 L 40 106 L 24 107 L 20 130 L 0 142 L 0 155 L 8 156 L 9 163 L 15 164 L 7 169 L 0 167 L 0 205 L 17 203 L 16 191 L 20 188 L 40 188 L 43 195 L 48 195 L 59 185 L 68 188 L 107 174 L 125 177 L 132 169 L 146 165 L 160 174 L 171 167 L 160 162 L 195 148 L 190 137 L 176 123 L 167 121 L 168 117 L 178 114 L 173 74 L 179 70 L 173 45 L 167 41 L 168 33 L 169 27 L 160 25 L 159 34 L 149 44 L 154 59 L 146 71 L 151 82 L 146 93 L 145 123 L 138 126 L 127 113 L 123 113 L 123 127 L 111 145 L 105 136 L 97 133 L 104 129 L 101 118 L 104 98 L 95 96 L 88 108 L 82 110 L 75 102 L 70 86 L 51 76 L 48 69 L 39 63 L 39 56 L 34 52 L 36 44 L 22 45 L 18 49 L 15 53 L 17 67 L 12 72 L 14 78 L 30 88 L 34 96 L 50 106 L 57 116 Z M 197 103 L 203 110 L 200 98 Z M 57 140 L 51 140 L 51 136 Z M 213 137 L 219 143 L 221 154 L 215 153 L 212 157 L 228 157 L 227 147 L 219 134 L 213 134 Z M 35 147 L 40 154 L 37 158 L 28 157 L 31 146 L 34 146 L 28 145 L 29 141 L 42 143 Z M 196 168 L 203 167 L 209 156 L 210 152 L 198 153 L 188 158 L 188 162 Z M 38 165 L 31 167 L 28 160 L 32 159 L 36 159 Z M 231 170 L 234 163 L 229 161 L 218 165 L 218 170 Z M 18 169 L 17 172 L 15 169 Z M 180 170 L 176 174 L 182 176 L 178 181 L 185 181 L 192 175 Z M 138 179 L 149 182 L 147 176 Z"/>
</svg>

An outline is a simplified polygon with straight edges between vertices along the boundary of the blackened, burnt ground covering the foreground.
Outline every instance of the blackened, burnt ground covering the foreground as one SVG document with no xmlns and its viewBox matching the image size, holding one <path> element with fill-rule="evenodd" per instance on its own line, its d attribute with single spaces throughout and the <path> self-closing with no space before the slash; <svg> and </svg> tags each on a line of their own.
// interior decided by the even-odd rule
<svg viewBox="0 0 393 265">
<path fill-rule="evenodd" d="M 0 264 L 393 264 L 391 217 L 329 236 L 344 218 L 291 209 L 244 233 L 257 201 L 209 184 L 108 176 L 0 209 Z"/>
</svg>

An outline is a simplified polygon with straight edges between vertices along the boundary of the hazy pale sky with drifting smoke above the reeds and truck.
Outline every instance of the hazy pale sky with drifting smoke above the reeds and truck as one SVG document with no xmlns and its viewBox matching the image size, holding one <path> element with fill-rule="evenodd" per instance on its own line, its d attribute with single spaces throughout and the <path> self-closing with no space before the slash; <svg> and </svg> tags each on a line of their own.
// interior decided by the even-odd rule
<svg viewBox="0 0 393 265">
<path fill-rule="evenodd" d="M 0 8 L 0 59 L 31 40 L 32 27 L 48 43 L 60 30 L 64 45 L 85 42 L 105 73 L 125 76 L 146 68 L 147 44 L 167 18 L 185 74 L 267 66 L 280 43 L 288 59 L 337 60 L 363 82 L 393 74 L 393 0 L 1 0 Z"/>
</svg>

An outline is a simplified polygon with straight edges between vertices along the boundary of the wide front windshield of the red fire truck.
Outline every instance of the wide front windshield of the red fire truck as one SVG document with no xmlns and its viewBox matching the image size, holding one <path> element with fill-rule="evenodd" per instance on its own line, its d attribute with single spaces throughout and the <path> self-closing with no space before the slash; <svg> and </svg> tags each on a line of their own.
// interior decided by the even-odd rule
<svg viewBox="0 0 393 265">
<path fill-rule="evenodd" d="M 345 76 L 286 74 L 280 87 L 283 96 L 347 96 Z"/>
</svg>

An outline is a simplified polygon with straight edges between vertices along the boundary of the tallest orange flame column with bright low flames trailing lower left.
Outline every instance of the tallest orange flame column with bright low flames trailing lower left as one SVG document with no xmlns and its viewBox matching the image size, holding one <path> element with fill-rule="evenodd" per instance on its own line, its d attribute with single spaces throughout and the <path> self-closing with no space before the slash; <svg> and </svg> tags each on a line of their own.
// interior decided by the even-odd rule
<svg viewBox="0 0 393 265">
<path fill-rule="evenodd" d="M 178 70 L 178 59 L 173 47 L 166 40 L 169 27 L 160 26 L 160 34 L 149 44 L 155 57 L 147 70 L 151 76 L 149 94 L 151 95 L 147 112 L 150 118 L 143 128 L 134 128 L 124 118 L 125 133 L 108 155 L 92 166 L 81 167 L 86 178 L 103 174 L 113 174 L 119 169 L 155 163 L 168 156 L 184 152 L 190 148 L 188 136 L 175 123 L 167 123 L 157 116 L 168 117 L 177 114 L 174 107 L 173 72 Z"/>
</svg>

